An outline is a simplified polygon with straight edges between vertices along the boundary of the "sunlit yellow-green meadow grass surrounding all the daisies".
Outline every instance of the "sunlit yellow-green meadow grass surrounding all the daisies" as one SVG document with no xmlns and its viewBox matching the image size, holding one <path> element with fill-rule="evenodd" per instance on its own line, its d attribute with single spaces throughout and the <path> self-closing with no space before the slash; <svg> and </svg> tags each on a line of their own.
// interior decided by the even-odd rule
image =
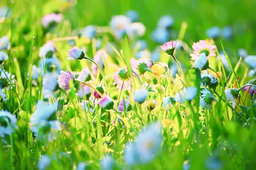
<svg viewBox="0 0 256 170">
<path fill-rule="evenodd" d="M 232 109 L 224 93 L 225 88 L 239 88 L 253 79 L 246 74 L 250 68 L 244 59 L 239 60 L 237 51 L 245 48 L 249 55 L 256 52 L 255 0 L 227 0 L 225 3 L 221 0 L 195 0 L 193 3 L 186 0 L 79 0 L 76 6 L 73 3 L 61 0 L 1 1 L 0 6 L 10 6 L 13 10 L 12 16 L 0 23 L 0 37 L 8 35 L 11 42 L 9 50 L 2 50 L 9 55 L 3 68 L 15 75 L 15 86 L 5 90 L 9 100 L 0 103 L 0 110 L 16 115 L 18 129 L 6 136 L 7 144 L 0 143 L 0 169 L 37 169 L 41 155 L 50 156 L 49 169 L 56 170 L 75 169 L 81 161 L 87 163 L 86 169 L 101 169 L 100 160 L 106 155 L 111 155 L 116 161 L 115 169 L 182 170 L 184 162 L 189 162 L 192 170 L 249 170 L 256 166 L 256 104 L 253 96 L 241 91 L 241 98 L 236 101 L 237 107 Z M 93 98 L 89 103 L 95 112 L 82 111 L 79 105 L 81 99 L 76 95 L 77 84 L 70 85 L 70 90 L 58 90 L 54 96 L 44 99 L 43 77 L 40 75 L 32 80 L 29 76 L 32 75 L 32 65 L 38 66 L 40 61 L 40 47 L 48 40 L 76 36 L 76 30 L 87 25 L 109 26 L 113 15 L 125 14 L 129 9 L 138 11 L 139 21 L 146 26 L 143 39 L 148 42 L 149 51 L 159 45 L 150 39 L 159 18 L 164 14 L 174 17 L 170 40 L 179 38 L 188 45 L 186 50 L 177 50 L 175 57 L 184 65 L 186 85 L 198 88 L 195 99 L 183 104 L 176 102 L 170 110 L 163 108 L 163 97 L 175 96 L 177 90 L 182 88 L 180 74 L 169 77 L 166 73 L 156 78 L 147 72 L 140 77 L 142 84 L 150 82 L 147 100 L 141 105 L 133 100 L 134 90 L 140 87 L 137 77 L 131 78 L 131 91 L 118 91 L 111 74 L 116 68 L 123 67 L 127 67 L 131 73 L 129 60 L 134 57 L 136 50 L 131 47 L 134 40 L 127 37 L 116 40 L 110 33 L 96 36 L 102 38 L 102 48 L 108 42 L 116 45 L 115 52 L 104 61 L 103 72 L 108 91 L 114 108 L 118 101 L 129 95 L 132 110 L 119 115 L 94 104 Z M 55 30 L 45 33 L 41 17 L 53 11 L 63 13 L 64 20 Z M 211 110 L 204 110 L 199 105 L 200 71 L 191 68 L 189 52 L 192 53 L 193 42 L 205 40 L 205 31 L 216 25 L 221 28 L 232 26 L 234 30 L 232 40 L 214 39 L 218 52 L 227 52 L 225 56 L 232 71 L 226 70 L 216 57 L 209 59 L 211 67 L 221 74 L 221 79 L 218 79 L 216 90 L 211 90 L 217 102 L 213 103 Z M 79 48 L 86 46 L 86 54 L 91 59 L 96 54 L 94 41 L 83 38 L 75 40 Z M 55 41 L 55 46 L 62 70 L 69 68 L 73 72 L 80 72 L 85 66 L 90 68 L 91 62 L 86 59 L 66 59 L 71 47 L 67 40 Z M 162 51 L 160 62 L 163 61 L 173 62 L 172 57 Z M 94 80 L 91 82 L 94 87 L 104 86 L 99 72 Z M 148 111 L 147 103 L 154 99 L 157 99 L 158 105 Z M 56 117 L 61 122 L 61 130 L 52 142 L 34 138 L 30 130 L 30 117 L 35 112 L 38 100 L 58 102 Z M 160 122 L 163 126 L 161 149 L 152 161 L 127 166 L 123 159 L 125 144 L 136 141 L 140 131 L 153 122 Z"/>
</svg>

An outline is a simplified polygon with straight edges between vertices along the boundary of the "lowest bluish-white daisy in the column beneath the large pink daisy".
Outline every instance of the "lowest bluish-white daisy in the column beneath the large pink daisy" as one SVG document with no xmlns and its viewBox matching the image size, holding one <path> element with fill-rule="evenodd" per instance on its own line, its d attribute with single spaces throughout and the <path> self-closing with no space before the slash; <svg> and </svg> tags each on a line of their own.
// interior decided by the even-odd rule
<svg viewBox="0 0 256 170">
<path fill-rule="evenodd" d="M 211 94 L 211 92 L 209 90 L 207 90 L 206 88 L 203 89 L 201 91 L 202 95 L 201 95 L 201 99 L 200 99 L 200 105 L 203 109 L 211 109 L 212 108 L 212 102 L 217 100 L 215 99 L 215 97 L 213 96 L 213 94 Z"/>
</svg>

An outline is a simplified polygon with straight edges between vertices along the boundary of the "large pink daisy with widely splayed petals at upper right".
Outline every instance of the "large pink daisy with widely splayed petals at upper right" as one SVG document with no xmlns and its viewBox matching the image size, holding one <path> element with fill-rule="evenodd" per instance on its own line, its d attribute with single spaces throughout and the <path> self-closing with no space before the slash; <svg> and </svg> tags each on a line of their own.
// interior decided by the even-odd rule
<svg viewBox="0 0 256 170">
<path fill-rule="evenodd" d="M 213 45 L 213 40 L 199 40 L 199 42 L 192 45 L 193 54 L 190 54 L 192 60 L 198 59 L 201 53 L 205 53 L 206 57 L 213 57 L 216 56 L 215 49 L 217 48 L 216 45 Z"/>
</svg>

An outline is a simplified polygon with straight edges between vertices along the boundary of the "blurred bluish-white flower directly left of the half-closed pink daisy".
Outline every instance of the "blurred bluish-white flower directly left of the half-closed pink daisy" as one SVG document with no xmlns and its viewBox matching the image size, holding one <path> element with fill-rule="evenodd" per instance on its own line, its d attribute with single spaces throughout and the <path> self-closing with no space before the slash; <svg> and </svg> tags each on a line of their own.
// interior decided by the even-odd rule
<svg viewBox="0 0 256 170">
<path fill-rule="evenodd" d="M 54 77 L 51 74 L 45 74 L 42 84 L 44 99 L 47 99 L 48 97 L 51 97 L 53 95 L 53 92 L 58 88 L 57 77 Z"/>
</svg>

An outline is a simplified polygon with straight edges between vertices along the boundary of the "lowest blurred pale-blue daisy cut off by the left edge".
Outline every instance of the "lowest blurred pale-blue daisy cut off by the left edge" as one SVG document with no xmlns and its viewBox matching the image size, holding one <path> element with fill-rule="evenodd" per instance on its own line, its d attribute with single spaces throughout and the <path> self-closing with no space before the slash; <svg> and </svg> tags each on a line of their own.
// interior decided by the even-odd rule
<svg viewBox="0 0 256 170">
<path fill-rule="evenodd" d="M 12 115 L 9 111 L 0 111 L 0 136 L 3 138 L 5 135 L 13 133 L 18 128 L 16 122 L 15 115 Z"/>
</svg>

